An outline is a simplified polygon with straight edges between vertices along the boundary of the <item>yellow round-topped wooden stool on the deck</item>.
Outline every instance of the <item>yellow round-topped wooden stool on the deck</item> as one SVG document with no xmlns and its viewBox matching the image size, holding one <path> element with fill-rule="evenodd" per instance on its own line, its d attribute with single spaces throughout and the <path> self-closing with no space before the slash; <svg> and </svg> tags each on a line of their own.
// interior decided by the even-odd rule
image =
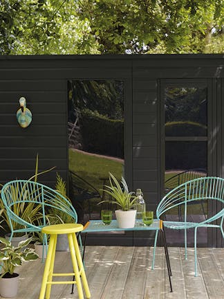
<svg viewBox="0 0 224 299">
<path fill-rule="evenodd" d="M 77 243 L 75 233 L 83 230 L 82 224 L 55 224 L 52 226 L 45 226 L 42 228 L 42 233 L 50 235 L 50 242 L 48 246 L 48 255 L 46 257 L 46 264 L 44 268 L 44 275 L 39 293 L 39 299 L 49 299 L 52 284 L 77 284 L 77 291 L 80 299 L 84 299 L 82 284 L 86 293 L 86 298 L 91 298 L 91 293 L 88 289 L 88 282 L 86 280 L 86 273 L 82 264 L 82 257 L 80 255 L 80 248 Z M 55 262 L 55 250 L 57 244 L 57 235 L 66 234 L 68 236 L 68 244 L 71 252 L 71 260 L 73 263 L 74 273 L 53 273 Z M 75 281 L 52 281 L 53 276 L 74 276 Z M 82 278 L 82 283 L 81 279 Z M 44 297 L 45 294 L 45 297 Z"/>
</svg>

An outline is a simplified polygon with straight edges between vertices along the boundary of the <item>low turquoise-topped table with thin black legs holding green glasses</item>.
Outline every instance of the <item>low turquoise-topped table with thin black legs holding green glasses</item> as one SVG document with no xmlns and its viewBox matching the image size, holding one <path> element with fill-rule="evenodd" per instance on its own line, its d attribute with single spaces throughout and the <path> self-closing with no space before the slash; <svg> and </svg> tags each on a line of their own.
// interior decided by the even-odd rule
<svg viewBox="0 0 224 299">
<path fill-rule="evenodd" d="M 88 233 L 100 233 L 100 232 L 113 232 L 113 231 L 133 231 L 133 230 L 155 230 L 155 241 L 154 241 L 154 248 L 153 248 L 153 260 L 152 260 L 152 266 L 151 269 L 154 269 L 154 263 L 155 263 L 155 254 L 156 254 L 156 242 L 158 233 L 160 232 L 162 234 L 163 244 L 165 248 L 165 257 L 167 262 L 167 270 L 169 275 L 169 285 L 170 285 L 170 291 L 172 290 L 172 284 L 171 284 L 171 267 L 169 263 L 169 253 L 167 250 L 167 242 L 165 238 L 165 233 L 163 230 L 162 220 L 160 219 L 153 219 L 153 223 L 150 226 L 144 226 L 142 223 L 142 220 L 136 220 L 136 224 L 133 228 L 119 228 L 117 220 L 112 220 L 111 224 L 105 225 L 101 220 L 90 220 L 86 223 L 84 226 L 84 230 L 82 230 L 82 234 L 85 234 L 84 238 L 84 248 L 83 248 L 83 259 L 84 259 L 84 253 L 85 253 L 85 247 L 86 247 L 86 237 Z"/>
</svg>

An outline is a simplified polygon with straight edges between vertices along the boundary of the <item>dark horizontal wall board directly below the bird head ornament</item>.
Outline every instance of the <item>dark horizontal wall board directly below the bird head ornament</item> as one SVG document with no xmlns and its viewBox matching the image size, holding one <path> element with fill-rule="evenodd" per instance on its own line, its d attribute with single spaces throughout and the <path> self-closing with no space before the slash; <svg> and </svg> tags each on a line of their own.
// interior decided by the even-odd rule
<svg viewBox="0 0 224 299">
<path fill-rule="evenodd" d="M 1 116 L 0 116 L 1 117 Z M 62 125 L 35 125 L 30 129 L 22 129 L 19 124 L 17 125 L 0 125 L 1 136 L 16 136 L 17 134 L 24 134 L 26 130 L 26 137 L 28 136 L 64 136 L 67 134 L 67 128 Z"/>
</svg>

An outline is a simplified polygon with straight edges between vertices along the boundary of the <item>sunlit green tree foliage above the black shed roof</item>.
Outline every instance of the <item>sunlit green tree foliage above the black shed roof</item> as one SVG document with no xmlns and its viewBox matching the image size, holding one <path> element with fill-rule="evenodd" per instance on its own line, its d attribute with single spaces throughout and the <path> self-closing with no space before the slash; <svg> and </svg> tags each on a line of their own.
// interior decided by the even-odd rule
<svg viewBox="0 0 224 299">
<path fill-rule="evenodd" d="M 0 0 L 0 53 L 223 53 L 224 0 Z"/>
</svg>

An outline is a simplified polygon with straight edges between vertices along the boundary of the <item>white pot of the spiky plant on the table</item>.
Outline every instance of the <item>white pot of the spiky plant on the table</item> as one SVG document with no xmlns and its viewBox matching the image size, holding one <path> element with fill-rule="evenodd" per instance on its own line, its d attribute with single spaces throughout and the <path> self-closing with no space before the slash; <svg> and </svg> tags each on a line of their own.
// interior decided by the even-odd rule
<svg viewBox="0 0 224 299">
<path fill-rule="evenodd" d="M 119 228 L 133 228 L 136 223 L 136 210 L 115 210 Z"/>
</svg>

